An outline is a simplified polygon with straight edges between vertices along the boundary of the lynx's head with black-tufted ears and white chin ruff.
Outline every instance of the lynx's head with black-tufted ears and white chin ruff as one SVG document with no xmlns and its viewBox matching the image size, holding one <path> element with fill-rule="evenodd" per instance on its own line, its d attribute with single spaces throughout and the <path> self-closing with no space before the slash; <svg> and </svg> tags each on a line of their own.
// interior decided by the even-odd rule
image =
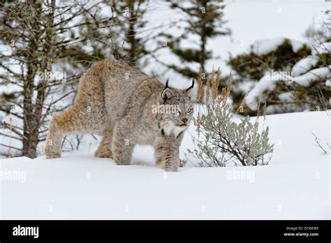
<svg viewBox="0 0 331 243">
<path fill-rule="evenodd" d="M 159 126 L 165 135 L 175 135 L 182 133 L 189 127 L 193 116 L 193 103 L 191 101 L 191 91 L 194 80 L 189 89 L 172 89 L 168 87 L 168 80 L 165 89 L 159 95 L 159 104 L 162 105 L 163 112 L 160 112 Z"/>
</svg>

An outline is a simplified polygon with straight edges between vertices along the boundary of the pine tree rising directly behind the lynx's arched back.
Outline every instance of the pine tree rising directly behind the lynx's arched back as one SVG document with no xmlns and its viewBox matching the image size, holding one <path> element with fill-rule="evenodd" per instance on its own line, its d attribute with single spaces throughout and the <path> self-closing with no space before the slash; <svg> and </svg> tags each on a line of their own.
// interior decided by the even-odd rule
<svg viewBox="0 0 331 243">
<path fill-rule="evenodd" d="M 98 8 L 103 11 L 82 16 L 83 22 L 94 23 L 108 17 L 115 24 L 112 28 L 95 24 L 84 24 L 79 28 L 84 42 L 72 47 L 72 51 L 78 52 L 73 57 L 73 61 L 78 64 L 75 68 L 82 67 L 84 70 L 91 63 L 105 58 L 120 59 L 131 66 L 142 68 L 144 64 L 140 60 L 149 53 L 145 41 L 152 38 L 145 33 L 141 34 L 147 24 L 145 15 L 149 10 L 149 1 L 101 0 Z M 107 16 L 104 15 L 105 12 L 108 13 Z"/>
</svg>

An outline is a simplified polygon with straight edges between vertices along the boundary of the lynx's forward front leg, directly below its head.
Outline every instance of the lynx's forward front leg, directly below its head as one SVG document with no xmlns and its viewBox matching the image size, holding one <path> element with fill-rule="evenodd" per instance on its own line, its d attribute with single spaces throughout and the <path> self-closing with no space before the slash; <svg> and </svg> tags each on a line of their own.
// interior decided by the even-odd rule
<svg viewBox="0 0 331 243">
<path fill-rule="evenodd" d="M 177 138 L 158 138 L 154 145 L 156 165 L 159 165 L 165 171 L 177 172 L 179 166 L 179 145 Z"/>
</svg>

